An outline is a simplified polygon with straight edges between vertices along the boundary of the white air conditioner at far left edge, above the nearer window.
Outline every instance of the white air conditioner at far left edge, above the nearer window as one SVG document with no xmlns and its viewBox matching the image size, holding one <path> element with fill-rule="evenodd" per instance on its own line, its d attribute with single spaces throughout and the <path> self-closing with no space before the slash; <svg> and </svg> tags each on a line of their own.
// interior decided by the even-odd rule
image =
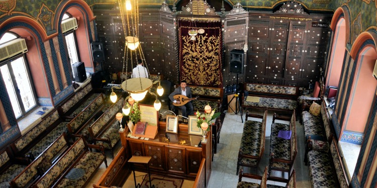
<svg viewBox="0 0 377 188">
<path fill-rule="evenodd" d="M 15 39 L 0 45 L 0 61 L 10 59 L 28 51 L 25 39 Z"/>
</svg>

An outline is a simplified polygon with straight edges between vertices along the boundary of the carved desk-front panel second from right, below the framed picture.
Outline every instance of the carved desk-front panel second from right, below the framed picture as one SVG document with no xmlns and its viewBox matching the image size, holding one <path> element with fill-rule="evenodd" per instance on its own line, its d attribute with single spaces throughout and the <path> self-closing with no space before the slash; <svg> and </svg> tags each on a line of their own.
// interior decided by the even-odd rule
<svg viewBox="0 0 377 188">
<path fill-rule="evenodd" d="M 186 150 L 184 148 L 167 146 L 166 162 L 168 172 L 186 174 Z"/>
</svg>

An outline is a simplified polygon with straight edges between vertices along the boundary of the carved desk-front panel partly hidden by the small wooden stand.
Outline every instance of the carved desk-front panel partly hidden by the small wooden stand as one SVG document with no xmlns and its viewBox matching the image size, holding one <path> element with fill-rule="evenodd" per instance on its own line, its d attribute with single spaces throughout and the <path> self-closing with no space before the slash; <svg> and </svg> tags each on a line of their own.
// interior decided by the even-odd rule
<svg viewBox="0 0 377 188">
<path fill-rule="evenodd" d="M 149 167 L 151 169 L 165 170 L 165 150 L 163 145 L 144 143 L 145 155 L 151 156 Z"/>
</svg>

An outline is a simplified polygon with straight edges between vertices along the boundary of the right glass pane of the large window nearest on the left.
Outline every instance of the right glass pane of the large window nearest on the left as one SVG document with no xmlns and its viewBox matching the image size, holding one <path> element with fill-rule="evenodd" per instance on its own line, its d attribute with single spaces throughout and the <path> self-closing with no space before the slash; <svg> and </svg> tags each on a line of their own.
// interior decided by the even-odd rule
<svg viewBox="0 0 377 188">
<path fill-rule="evenodd" d="M 25 111 L 28 111 L 34 107 L 36 103 L 28 72 L 26 71 L 24 58 L 20 57 L 12 61 L 11 65 L 16 78 L 17 86 L 20 89 L 22 103 L 24 104 Z"/>
</svg>

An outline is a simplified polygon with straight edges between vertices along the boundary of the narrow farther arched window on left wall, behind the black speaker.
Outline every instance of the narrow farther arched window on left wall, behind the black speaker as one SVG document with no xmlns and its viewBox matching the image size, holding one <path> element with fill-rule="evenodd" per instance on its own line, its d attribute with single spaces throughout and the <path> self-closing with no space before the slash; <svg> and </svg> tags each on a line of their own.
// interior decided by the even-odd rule
<svg viewBox="0 0 377 188">
<path fill-rule="evenodd" d="M 70 15 L 64 14 L 62 21 L 67 20 L 71 18 Z M 68 56 L 69 56 L 69 62 L 71 64 L 71 69 L 72 69 L 72 75 L 74 78 L 74 72 L 73 72 L 73 67 L 72 64 L 79 62 L 79 53 L 77 51 L 77 41 L 76 41 L 76 35 L 75 35 L 75 30 L 63 33 L 65 36 L 65 43 L 67 44 L 67 50 L 68 50 Z"/>
</svg>

